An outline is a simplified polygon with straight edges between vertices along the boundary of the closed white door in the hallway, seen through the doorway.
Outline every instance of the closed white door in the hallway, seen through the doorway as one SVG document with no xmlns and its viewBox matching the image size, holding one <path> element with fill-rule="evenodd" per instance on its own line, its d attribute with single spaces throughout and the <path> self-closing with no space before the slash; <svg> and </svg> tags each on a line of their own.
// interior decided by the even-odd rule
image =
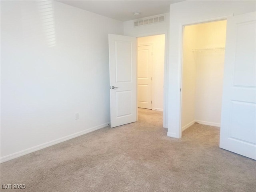
<svg viewBox="0 0 256 192">
<path fill-rule="evenodd" d="M 152 45 L 138 46 L 138 107 L 152 109 Z"/>
</svg>

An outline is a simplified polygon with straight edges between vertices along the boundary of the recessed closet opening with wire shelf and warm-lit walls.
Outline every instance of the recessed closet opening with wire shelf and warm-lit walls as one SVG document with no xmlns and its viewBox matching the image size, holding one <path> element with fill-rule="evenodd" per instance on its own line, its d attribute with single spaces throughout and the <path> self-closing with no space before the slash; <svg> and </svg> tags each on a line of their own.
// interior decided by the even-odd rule
<svg viewBox="0 0 256 192">
<path fill-rule="evenodd" d="M 226 20 L 184 27 L 181 128 L 220 127 Z"/>
</svg>

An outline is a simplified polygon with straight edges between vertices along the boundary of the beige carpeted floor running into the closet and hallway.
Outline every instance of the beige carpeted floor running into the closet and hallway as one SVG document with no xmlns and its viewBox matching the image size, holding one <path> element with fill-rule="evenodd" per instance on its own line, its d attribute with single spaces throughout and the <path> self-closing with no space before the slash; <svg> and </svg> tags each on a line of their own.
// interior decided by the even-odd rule
<svg viewBox="0 0 256 192">
<path fill-rule="evenodd" d="M 1 164 L 1 192 L 255 192 L 256 161 L 220 149 L 220 129 L 194 124 L 169 138 L 162 112 Z"/>
</svg>

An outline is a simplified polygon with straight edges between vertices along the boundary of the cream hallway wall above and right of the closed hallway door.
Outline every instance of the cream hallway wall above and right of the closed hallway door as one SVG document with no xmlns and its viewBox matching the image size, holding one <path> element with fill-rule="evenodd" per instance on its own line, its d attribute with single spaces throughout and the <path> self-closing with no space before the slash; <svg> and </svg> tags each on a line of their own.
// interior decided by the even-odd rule
<svg viewBox="0 0 256 192">
<path fill-rule="evenodd" d="M 152 110 L 164 108 L 164 42 L 164 34 L 137 39 L 138 46 L 152 45 Z"/>
</svg>

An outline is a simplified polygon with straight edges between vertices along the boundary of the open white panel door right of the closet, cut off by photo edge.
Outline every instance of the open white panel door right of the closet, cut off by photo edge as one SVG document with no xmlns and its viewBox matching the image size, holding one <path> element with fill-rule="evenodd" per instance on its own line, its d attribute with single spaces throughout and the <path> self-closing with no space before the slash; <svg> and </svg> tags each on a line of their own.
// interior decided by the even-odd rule
<svg viewBox="0 0 256 192">
<path fill-rule="evenodd" d="M 256 159 L 256 12 L 228 18 L 220 148 Z"/>
</svg>

